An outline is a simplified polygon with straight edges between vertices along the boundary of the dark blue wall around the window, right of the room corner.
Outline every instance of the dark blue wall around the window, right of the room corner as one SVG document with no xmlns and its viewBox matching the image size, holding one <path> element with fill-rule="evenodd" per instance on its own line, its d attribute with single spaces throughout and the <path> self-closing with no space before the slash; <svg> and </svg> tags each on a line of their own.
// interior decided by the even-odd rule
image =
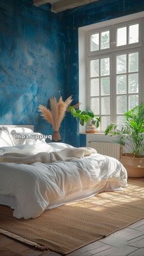
<svg viewBox="0 0 144 256">
<path fill-rule="evenodd" d="M 143 0 L 101 0 L 67 10 L 59 15 L 67 27 L 67 95 L 73 94 L 74 101 L 79 100 L 79 67 L 78 67 L 78 28 L 101 21 L 118 18 L 144 10 Z M 73 129 L 71 127 L 73 126 Z M 77 133 L 78 124 L 73 117 L 67 117 L 65 141 L 79 146 L 85 144 L 85 136 Z"/>
</svg>

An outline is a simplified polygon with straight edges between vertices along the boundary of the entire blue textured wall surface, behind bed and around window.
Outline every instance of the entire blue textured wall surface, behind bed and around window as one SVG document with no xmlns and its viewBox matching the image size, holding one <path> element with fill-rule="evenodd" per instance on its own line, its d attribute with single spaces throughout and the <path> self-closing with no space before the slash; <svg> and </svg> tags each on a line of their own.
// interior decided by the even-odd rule
<svg viewBox="0 0 144 256">
<path fill-rule="evenodd" d="M 0 123 L 33 123 L 36 131 L 51 133 L 37 107 L 59 98 L 59 90 L 79 100 L 78 27 L 143 10 L 144 0 L 101 0 L 54 14 L 32 0 L 0 0 Z M 68 114 L 63 141 L 85 145 L 77 131 Z"/>
</svg>

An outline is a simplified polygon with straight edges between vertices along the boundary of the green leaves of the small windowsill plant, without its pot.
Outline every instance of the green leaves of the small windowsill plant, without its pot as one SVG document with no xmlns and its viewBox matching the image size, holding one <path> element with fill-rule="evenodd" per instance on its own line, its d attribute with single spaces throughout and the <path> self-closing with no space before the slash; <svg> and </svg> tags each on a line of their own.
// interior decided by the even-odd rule
<svg viewBox="0 0 144 256">
<path fill-rule="evenodd" d="M 84 126 L 84 123 L 88 123 L 89 121 L 91 121 L 93 125 L 96 126 L 96 128 L 99 127 L 99 122 L 101 119 L 100 117 L 96 117 L 91 109 L 88 109 L 87 111 L 81 111 L 80 109 L 75 109 L 70 106 L 69 110 L 71 112 L 71 115 L 73 115 L 73 117 L 76 118 L 77 122 L 81 123 L 82 126 Z"/>
</svg>

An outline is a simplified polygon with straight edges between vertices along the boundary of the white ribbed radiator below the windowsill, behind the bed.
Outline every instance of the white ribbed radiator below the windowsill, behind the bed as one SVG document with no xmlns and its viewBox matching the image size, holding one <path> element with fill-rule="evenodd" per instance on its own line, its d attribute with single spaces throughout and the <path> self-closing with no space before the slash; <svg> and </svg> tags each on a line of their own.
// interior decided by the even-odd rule
<svg viewBox="0 0 144 256">
<path fill-rule="evenodd" d="M 120 144 L 91 141 L 90 147 L 95 148 L 99 154 L 112 156 L 120 160 Z"/>
</svg>

